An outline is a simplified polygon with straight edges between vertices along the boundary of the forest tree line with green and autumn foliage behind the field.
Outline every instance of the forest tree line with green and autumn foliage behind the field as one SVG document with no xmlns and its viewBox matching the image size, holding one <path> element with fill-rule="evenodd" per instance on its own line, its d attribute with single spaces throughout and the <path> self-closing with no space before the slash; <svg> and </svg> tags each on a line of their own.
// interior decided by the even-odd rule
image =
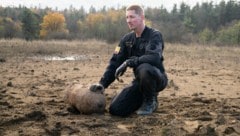
<svg viewBox="0 0 240 136">
<path fill-rule="evenodd" d="M 65 10 L 0 6 L 0 38 L 100 39 L 117 42 L 128 32 L 125 8 Z M 166 42 L 240 45 L 240 2 L 182 2 L 168 11 L 144 7 L 146 24 L 160 30 Z"/>
</svg>

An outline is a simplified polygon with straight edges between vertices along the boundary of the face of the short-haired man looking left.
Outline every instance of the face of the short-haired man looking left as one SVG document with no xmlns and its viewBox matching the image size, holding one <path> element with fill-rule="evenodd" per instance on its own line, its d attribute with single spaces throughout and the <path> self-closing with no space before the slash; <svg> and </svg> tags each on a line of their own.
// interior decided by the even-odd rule
<svg viewBox="0 0 240 136">
<path fill-rule="evenodd" d="M 141 26 L 143 19 L 140 15 L 136 14 L 134 10 L 126 11 L 126 20 L 130 30 L 136 30 Z"/>
</svg>

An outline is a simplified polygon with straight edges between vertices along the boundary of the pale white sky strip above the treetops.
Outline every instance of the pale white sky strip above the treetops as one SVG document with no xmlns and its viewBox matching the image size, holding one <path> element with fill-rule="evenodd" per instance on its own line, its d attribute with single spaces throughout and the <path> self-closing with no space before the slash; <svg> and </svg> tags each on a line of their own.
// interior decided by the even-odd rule
<svg viewBox="0 0 240 136">
<path fill-rule="evenodd" d="M 55 9 L 56 7 L 58 10 L 63 10 L 69 8 L 71 5 L 79 9 L 84 7 L 85 10 L 88 10 L 91 6 L 95 7 L 96 9 L 100 9 L 103 6 L 106 8 L 114 7 L 122 7 L 127 6 L 129 4 L 139 4 L 143 7 L 161 7 L 163 6 L 167 10 L 171 10 L 174 4 L 177 4 L 178 7 L 181 2 L 185 2 L 189 6 L 196 5 L 197 2 L 201 4 L 202 2 L 213 2 L 213 4 L 219 4 L 222 0 L 0 0 L 0 5 L 2 7 L 18 7 L 19 5 L 26 6 L 26 7 L 50 7 Z M 229 0 L 225 0 L 226 2 Z M 239 1 L 239 0 L 236 0 Z"/>
</svg>

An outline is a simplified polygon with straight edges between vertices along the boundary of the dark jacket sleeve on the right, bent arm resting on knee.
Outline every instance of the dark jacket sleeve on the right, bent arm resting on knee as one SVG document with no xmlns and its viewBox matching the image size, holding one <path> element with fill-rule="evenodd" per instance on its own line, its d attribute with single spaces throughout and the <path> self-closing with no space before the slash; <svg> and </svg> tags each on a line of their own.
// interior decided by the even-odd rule
<svg viewBox="0 0 240 136">
<path fill-rule="evenodd" d="M 149 63 L 161 69 L 163 48 L 164 42 L 161 33 L 159 31 L 153 31 L 149 43 L 145 48 L 145 54 L 139 57 L 139 64 Z"/>
</svg>

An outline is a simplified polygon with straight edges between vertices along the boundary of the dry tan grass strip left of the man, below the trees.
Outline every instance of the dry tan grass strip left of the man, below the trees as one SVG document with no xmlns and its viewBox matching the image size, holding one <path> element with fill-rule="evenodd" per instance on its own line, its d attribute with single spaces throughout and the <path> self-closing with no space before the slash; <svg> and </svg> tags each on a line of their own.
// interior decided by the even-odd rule
<svg viewBox="0 0 240 136">
<path fill-rule="evenodd" d="M 0 40 L 0 57 L 78 54 L 87 50 L 107 51 L 114 45 L 104 41 L 25 41 L 21 39 Z"/>
</svg>

